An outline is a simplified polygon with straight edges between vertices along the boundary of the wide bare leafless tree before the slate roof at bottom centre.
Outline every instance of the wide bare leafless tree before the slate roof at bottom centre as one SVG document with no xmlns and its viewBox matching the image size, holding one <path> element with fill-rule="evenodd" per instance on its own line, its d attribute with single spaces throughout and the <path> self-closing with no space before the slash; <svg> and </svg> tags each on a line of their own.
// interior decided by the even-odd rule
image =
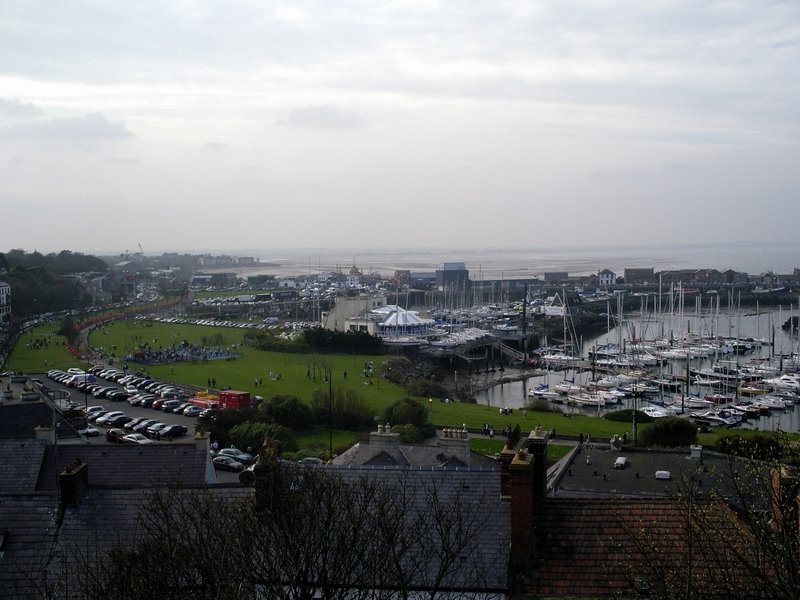
<svg viewBox="0 0 800 600">
<path fill-rule="evenodd" d="M 148 492 L 129 536 L 61 557 L 62 595 L 458 598 L 496 567 L 481 554 L 487 498 L 465 475 L 300 467 L 270 445 L 255 475 L 255 490 Z"/>
</svg>

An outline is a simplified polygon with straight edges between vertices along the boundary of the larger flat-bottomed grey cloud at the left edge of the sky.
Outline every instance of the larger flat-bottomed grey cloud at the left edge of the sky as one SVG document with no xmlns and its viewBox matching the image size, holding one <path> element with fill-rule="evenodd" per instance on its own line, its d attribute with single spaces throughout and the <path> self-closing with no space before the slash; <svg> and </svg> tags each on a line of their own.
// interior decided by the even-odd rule
<svg viewBox="0 0 800 600">
<path fill-rule="evenodd" d="M 101 113 L 85 117 L 64 117 L 28 125 L 12 125 L 0 129 L 0 139 L 38 141 L 100 141 L 134 137 L 121 121 L 109 121 Z"/>
</svg>

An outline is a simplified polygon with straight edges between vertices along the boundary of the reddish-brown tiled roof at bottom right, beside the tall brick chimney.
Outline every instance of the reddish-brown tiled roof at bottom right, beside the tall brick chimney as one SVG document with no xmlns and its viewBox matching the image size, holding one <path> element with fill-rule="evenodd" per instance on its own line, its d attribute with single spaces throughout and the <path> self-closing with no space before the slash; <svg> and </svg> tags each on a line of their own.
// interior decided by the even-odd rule
<svg viewBox="0 0 800 600">
<path fill-rule="evenodd" d="M 726 555 L 744 539 L 736 518 L 722 503 L 706 509 L 706 524 L 714 526 L 691 536 L 689 552 L 690 513 L 670 499 L 542 499 L 534 510 L 531 568 L 517 578 L 519 597 L 675 593 L 690 572 L 697 597 L 753 592 L 746 571 L 731 568 Z"/>
</svg>

